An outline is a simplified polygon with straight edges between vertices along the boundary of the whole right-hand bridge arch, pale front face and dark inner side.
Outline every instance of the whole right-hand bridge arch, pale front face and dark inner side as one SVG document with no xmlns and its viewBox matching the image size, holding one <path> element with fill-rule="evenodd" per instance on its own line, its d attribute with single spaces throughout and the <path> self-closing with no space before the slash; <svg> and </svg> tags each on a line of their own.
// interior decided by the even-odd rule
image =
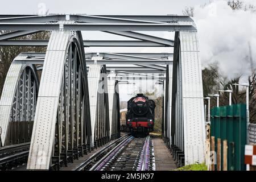
<svg viewBox="0 0 256 182">
<path fill-rule="evenodd" d="M 170 68 L 169 68 L 170 69 Z M 178 163 L 205 161 L 203 81 L 197 32 L 176 32 L 171 108 L 166 119 L 171 126 L 171 149 Z M 168 74 L 167 74 L 168 75 Z M 170 78 L 169 78 L 170 80 Z M 170 84 L 169 84 L 170 85 Z M 166 131 L 167 132 L 167 131 Z"/>
</svg>

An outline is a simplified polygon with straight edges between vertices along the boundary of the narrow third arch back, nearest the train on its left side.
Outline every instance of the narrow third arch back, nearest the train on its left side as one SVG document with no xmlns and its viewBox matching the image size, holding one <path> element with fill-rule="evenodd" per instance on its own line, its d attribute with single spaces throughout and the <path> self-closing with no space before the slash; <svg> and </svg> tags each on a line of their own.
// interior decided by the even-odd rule
<svg viewBox="0 0 256 182">
<path fill-rule="evenodd" d="M 119 87 L 118 81 L 115 80 L 115 74 L 110 74 L 108 80 L 109 96 L 109 126 L 110 139 L 120 137 L 120 107 L 119 107 Z"/>
</svg>

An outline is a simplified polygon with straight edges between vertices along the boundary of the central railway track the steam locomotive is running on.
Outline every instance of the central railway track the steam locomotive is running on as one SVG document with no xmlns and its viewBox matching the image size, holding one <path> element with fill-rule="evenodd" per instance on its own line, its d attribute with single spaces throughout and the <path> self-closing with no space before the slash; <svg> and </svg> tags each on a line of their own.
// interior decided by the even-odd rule
<svg viewBox="0 0 256 182">
<path fill-rule="evenodd" d="M 92 159 L 88 159 L 88 162 Z M 90 171 L 154 171 L 154 148 L 150 137 L 127 137 L 97 162 Z"/>
</svg>

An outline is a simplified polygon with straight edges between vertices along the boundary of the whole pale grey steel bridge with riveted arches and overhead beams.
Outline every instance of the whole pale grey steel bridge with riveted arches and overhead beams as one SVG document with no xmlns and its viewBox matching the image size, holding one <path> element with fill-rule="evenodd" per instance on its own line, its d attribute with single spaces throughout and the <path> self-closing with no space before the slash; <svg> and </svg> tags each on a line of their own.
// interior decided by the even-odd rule
<svg viewBox="0 0 256 182">
<path fill-rule="evenodd" d="M 163 139 L 175 159 L 183 164 L 205 161 L 200 51 L 197 28 L 189 16 L 0 15 L 0 30 L 6 31 L 0 35 L 0 46 L 47 47 L 46 52 L 16 56 L 0 101 L 1 141 L 31 142 L 27 169 L 49 169 L 60 160 L 67 164 L 119 138 L 118 85 L 148 79 L 163 85 Z M 42 31 L 50 31 L 51 38 L 20 39 Z M 81 31 L 134 40 L 83 40 Z M 175 39 L 140 31 L 172 31 Z M 85 52 L 86 47 L 170 51 Z"/>
</svg>

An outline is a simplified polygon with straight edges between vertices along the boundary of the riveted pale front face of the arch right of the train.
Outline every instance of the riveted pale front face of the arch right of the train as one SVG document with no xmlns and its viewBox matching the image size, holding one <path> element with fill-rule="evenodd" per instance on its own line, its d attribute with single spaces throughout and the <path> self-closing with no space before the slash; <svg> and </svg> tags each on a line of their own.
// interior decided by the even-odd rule
<svg viewBox="0 0 256 182">
<path fill-rule="evenodd" d="M 197 32 L 180 32 L 185 164 L 205 162 L 203 81 Z M 183 128 L 181 125 L 180 128 Z M 182 135 L 181 135 L 181 138 Z"/>
</svg>

